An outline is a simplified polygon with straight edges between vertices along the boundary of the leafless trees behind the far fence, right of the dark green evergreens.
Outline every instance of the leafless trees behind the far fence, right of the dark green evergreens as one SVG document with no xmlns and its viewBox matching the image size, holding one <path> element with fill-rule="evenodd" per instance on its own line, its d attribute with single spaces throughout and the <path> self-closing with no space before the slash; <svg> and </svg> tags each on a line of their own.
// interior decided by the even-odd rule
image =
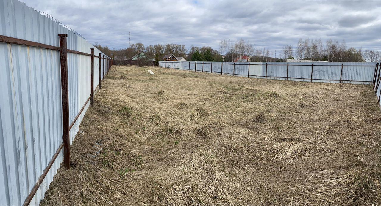
<svg viewBox="0 0 381 206">
<path fill-rule="evenodd" d="M 280 56 L 275 56 L 269 49 L 256 49 L 254 44 L 242 39 L 232 43 L 230 40 L 221 40 L 219 51 L 224 60 L 232 62 L 242 55 L 250 56 L 251 62 L 284 62 L 286 59 L 318 60 L 327 62 L 378 62 L 381 60 L 379 51 L 355 49 L 348 47 L 345 40 L 328 39 L 323 45 L 321 39 L 299 39 L 296 49 L 292 45 L 283 45 Z"/>
</svg>

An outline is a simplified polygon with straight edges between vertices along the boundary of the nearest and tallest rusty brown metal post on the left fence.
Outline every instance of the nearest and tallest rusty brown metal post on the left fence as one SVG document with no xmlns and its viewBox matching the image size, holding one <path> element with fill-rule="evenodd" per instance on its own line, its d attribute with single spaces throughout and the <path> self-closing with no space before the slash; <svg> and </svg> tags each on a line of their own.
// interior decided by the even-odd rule
<svg viewBox="0 0 381 206">
<path fill-rule="evenodd" d="M 59 34 L 59 57 L 61 62 L 61 95 L 62 95 L 62 139 L 64 142 L 64 166 L 70 169 L 70 129 L 69 129 L 69 83 L 67 77 L 67 34 Z"/>
</svg>

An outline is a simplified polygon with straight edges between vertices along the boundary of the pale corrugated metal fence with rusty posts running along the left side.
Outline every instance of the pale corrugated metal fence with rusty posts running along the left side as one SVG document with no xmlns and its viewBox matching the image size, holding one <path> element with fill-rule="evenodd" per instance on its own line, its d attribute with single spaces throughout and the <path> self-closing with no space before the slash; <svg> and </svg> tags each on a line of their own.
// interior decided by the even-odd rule
<svg viewBox="0 0 381 206">
<path fill-rule="evenodd" d="M 38 205 L 112 60 L 17 0 L 0 22 L 0 205 Z"/>
</svg>

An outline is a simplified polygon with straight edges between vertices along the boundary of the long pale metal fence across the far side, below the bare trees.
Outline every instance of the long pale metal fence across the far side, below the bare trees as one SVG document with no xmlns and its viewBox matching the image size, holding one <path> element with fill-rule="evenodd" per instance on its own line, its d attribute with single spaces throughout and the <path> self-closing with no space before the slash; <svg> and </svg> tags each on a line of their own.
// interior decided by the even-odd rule
<svg viewBox="0 0 381 206">
<path fill-rule="evenodd" d="M 369 62 L 159 62 L 160 67 L 248 78 L 373 84 L 376 63 Z"/>
</svg>

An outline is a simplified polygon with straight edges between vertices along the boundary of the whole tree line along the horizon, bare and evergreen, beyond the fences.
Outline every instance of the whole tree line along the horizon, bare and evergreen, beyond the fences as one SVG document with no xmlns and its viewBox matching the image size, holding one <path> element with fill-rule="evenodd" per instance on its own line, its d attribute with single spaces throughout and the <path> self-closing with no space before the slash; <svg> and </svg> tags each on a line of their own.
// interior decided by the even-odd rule
<svg viewBox="0 0 381 206">
<path fill-rule="evenodd" d="M 189 49 L 184 44 L 155 44 L 144 46 L 142 43 L 131 44 L 125 49 L 110 50 L 107 46 L 98 43 L 94 45 L 104 54 L 113 57 L 125 57 L 129 59 L 140 51 L 144 51 L 147 59 L 162 60 L 165 54 L 173 54 L 175 57 L 184 57 L 188 61 L 213 61 L 234 62 L 237 59 L 248 57 L 250 62 L 284 62 L 286 59 L 319 60 L 328 62 L 378 62 L 381 60 L 379 51 L 356 49 L 349 47 L 343 40 L 328 39 L 323 44 L 321 39 L 300 38 L 296 47 L 284 45 L 279 56 L 277 52 L 268 48 L 256 48 L 255 44 L 242 38 L 237 41 L 221 40 L 219 49 L 209 46 L 196 47 L 191 45 Z"/>
</svg>

